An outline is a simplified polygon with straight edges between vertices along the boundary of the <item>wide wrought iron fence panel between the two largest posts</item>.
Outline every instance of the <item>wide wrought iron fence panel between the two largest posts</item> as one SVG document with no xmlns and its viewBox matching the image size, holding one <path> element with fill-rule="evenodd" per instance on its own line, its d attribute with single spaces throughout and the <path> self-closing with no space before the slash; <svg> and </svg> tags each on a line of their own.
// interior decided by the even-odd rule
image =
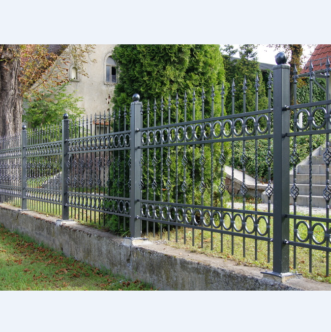
<svg viewBox="0 0 331 332">
<path fill-rule="evenodd" d="M 269 96 L 271 96 L 271 87 L 272 82 Z M 232 91 L 234 94 L 234 86 Z M 204 247 L 207 240 L 210 241 L 211 250 L 216 246 L 215 234 L 219 234 L 217 247 L 222 251 L 224 235 L 229 235 L 232 254 L 236 238 L 241 238 L 243 256 L 246 251 L 246 239 L 253 239 L 256 259 L 258 241 L 265 241 L 268 243 L 266 251 L 270 260 L 271 202 L 268 212 L 258 211 L 256 180 L 251 191 L 255 206 L 253 211 L 247 209 L 245 163 L 248 158 L 254 158 L 257 173 L 258 141 L 265 140 L 268 142 L 268 150 L 264 157 L 269 160 L 271 168 L 272 109 L 258 110 L 256 106 L 253 112 L 235 114 L 233 107 L 232 114 L 224 115 L 224 88 L 222 88 L 222 106 L 218 107 L 219 116 L 216 116 L 214 93 L 212 87 L 208 109 L 205 106 L 207 97 L 204 89 L 199 108 L 195 104 L 195 92 L 190 109 L 186 94 L 183 100 L 176 96 L 172 101 L 169 97 L 167 104 L 163 100 L 159 103 L 154 101 L 153 115 L 150 114 L 150 104 L 147 104 L 146 112 L 143 113 L 146 116 L 146 127 L 139 129 L 141 133 L 141 143 L 138 146 L 141 151 L 139 201 L 142 211 L 139 219 L 146 222 L 147 235 L 152 231 L 154 236 L 157 230 L 161 238 L 165 229 L 170 239 L 170 229 L 174 228 L 177 241 L 178 230 L 182 228 L 181 236 L 184 242 L 186 243 L 187 234 L 190 232 L 192 245 L 195 245 L 195 232 L 198 231 L 199 246 Z M 256 100 L 258 101 L 258 85 L 256 85 Z M 271 107 L 271 98 L 269 106 Z M 200 114 L 200 119 L 196 118 L 196 113 Z M 206 113 L 209 117 L 205 116 Z M 157 114 L 160 114 L 160 117 L 157 117 Z M 178 122 L 179 114 L 182 122 Z M 187 121 L 188 117 L 191 118 L 190 121 Z M 254 142 L 254 156 L 245 154 L 245 143 L 248 141 Z M 234 181 L 230 185 L 225 183 L 225 166 L 232 166 L 232 178 L 234 178 L 235 143 L 241 146 L 243 171 L 239 189 L 242 203 L 239 208 L 237 204 L 235 206 Z M 228 161 L 224 144 L 231 145 Z M 271 182 L 271 172 L 269 172 L 269 182 Z M 224 203 L 226 187 L 232 193 L 230 204 Z M 272 188 L 270 191 L 272 194 Z M 205 236 L 206 234 L 211 235 Z"/>
</svg>

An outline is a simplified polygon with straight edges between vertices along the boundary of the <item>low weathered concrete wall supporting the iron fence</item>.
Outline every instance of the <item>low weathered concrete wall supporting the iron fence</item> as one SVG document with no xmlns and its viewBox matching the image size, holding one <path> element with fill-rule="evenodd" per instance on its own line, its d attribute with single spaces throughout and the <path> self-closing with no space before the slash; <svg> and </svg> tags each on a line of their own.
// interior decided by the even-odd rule
<svg viewBox="0 0 331 332">
<path fill-rule="evenodd" d="M 0 204 L 0 224 L 65 256 L 149 282 L 160 290 L 331 290 L 330 284 L 303 278 L 278 283 L 263 278 L 259 268 L 171 248 L 162 242 L 123 239 L 6 204 Z"/>
</svg>

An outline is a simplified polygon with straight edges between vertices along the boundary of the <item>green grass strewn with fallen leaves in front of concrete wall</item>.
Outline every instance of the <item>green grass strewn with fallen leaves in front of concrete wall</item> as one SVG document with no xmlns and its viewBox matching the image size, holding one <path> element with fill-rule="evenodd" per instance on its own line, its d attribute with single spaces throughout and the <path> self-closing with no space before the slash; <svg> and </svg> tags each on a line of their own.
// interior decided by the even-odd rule
<svg viewBox="0 0 331 332">
<path fill-rule="evenodd" d="M 0 291 L 149 291 L 128 280 L 67 258 L 0 225 Z"/>
</svg>

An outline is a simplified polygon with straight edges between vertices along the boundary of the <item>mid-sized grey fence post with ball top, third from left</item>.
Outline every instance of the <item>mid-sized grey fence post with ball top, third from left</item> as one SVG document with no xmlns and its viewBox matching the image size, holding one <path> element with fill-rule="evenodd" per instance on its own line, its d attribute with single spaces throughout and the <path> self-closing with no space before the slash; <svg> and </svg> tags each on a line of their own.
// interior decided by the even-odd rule
<svg viewBox="0 0 331 332">
<path fill-rule="evenodd" d="M 141 144 L 141 133 L 138 129 L 142 128 L 141 102 L 140 96 L 134 94 L 131 102 L 131 188 L 130 188 L 130 233 L 132 238 L 141 237 L 141 220 L 140 215 L 140 152 L 138 146 Z"/>
</svg>

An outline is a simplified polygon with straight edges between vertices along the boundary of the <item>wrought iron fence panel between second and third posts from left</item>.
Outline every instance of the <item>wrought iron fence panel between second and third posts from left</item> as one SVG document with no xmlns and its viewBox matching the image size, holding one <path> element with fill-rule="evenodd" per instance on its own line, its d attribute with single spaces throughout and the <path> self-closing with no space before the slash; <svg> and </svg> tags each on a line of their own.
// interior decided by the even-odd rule
<svg viewBox="0 0 331 332">
<path fill-rule="evenodd" d="M 67 177 L 72 218 L 107 224 L 117 216 L 128 228 L 130 212 L 130 131 L 126 110 L 72 122 L 69 128 Z"/>
</svg>

